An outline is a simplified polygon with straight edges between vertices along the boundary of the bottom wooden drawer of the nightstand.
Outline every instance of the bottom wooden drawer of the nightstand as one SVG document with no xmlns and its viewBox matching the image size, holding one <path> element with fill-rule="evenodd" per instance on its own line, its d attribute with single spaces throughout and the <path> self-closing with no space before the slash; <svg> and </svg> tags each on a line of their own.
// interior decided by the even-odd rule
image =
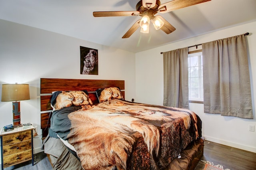
<svg viewBox="0 0 256 170">
<path fill-rule="evenodd" d="M 13 165 L 13 164 L 17 164 L 17 163 L 21 163 L 21 162 L 25 162 L 27 160 L 31 160 L 32 159 L 32 150 L 26 150 L 23 152 L 18 152 L 16 154 L 11 154 L 8 156 L 4 156 L 4 167 Z"/>
</svg>

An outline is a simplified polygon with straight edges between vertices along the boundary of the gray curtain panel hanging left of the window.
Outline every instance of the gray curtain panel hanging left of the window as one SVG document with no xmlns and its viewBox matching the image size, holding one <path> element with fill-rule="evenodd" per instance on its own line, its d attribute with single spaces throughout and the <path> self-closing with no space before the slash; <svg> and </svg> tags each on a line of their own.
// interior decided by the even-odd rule
<svg viewBox="0 0 256 170">
<path fill-rule="evenodd" d="M 188 109 L 188 47 L 163 53 L 164 106 Z"/>
</svg>

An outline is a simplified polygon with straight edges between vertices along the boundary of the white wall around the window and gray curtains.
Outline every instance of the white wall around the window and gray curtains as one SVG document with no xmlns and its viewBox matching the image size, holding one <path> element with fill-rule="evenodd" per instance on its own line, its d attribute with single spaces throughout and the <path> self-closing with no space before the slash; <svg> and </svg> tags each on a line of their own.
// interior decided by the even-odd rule
<svg viewBox="0 0 256 170">
<path fill-rule="evenodd" d="M 163 104 L 163 57 L 160 52 L 171 51 L 204 42 L 236 36 L 249 32 L 248 55 L 252 89 L 254 119 L 240 119 L 204 113 L 203 104 L 190 103 L 190 110 L 202 119 L 202 133 L 206 140 L 256 152 L 256 132 L 249 131 L 249 125 L 256 126 L 256 22 L 226 28 L 136 53 L 136 102 Z M 174 33 L 173 33 L 174 34 Z M 168 38 L 168 36 L 166 36 Z"/>
</svg>

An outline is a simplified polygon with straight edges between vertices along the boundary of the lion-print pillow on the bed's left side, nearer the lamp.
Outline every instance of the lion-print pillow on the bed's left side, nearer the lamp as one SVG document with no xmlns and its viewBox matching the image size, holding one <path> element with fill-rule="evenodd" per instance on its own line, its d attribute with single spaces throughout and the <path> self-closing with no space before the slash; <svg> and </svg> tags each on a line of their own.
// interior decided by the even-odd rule
<svg viewBox="0 0 256 170">
<path fill-rule="evenodd" d="M 53 110 L 80 105 L 92 105 L 92 101 L 86 90 L 52 92 L 51 106 Z"/>
</svg>

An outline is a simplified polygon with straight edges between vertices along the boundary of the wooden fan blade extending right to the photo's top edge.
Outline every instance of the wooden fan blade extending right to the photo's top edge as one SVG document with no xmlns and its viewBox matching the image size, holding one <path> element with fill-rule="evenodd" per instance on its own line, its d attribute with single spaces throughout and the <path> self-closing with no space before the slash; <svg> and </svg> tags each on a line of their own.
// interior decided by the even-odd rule
<svg viewBox="0 0 256 170">
<path fill-rule="evenodd" d="M 166 2 L 160 5 L 158 10 L 160 13 L 166 13 L 166 12 L 178 10 L 180 8 L 185 8 L 187 6 L 192 6 L 192 5 L 200 4 L 207 1 L 210 1 L 210 0 L 172 0 L 170 2 Z"/>
</svg>

